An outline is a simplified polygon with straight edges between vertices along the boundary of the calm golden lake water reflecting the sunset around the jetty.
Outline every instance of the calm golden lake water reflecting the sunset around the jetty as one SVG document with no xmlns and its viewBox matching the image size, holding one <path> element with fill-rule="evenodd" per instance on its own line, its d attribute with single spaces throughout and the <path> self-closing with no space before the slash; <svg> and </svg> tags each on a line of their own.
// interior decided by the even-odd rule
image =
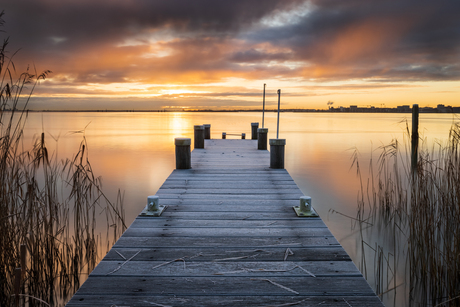
<svg viewBox="0 0 460 307">
<path fill-rule="evenodd" d="M 343 216 L 356 216 L 360 190 L 356 169 L 351 168 L 352 154 L 357 149 L 360 165 L 368 165 L 373 151 L 374 159 L 378 157 L 379 146 L 394 138 L 404 141 L 406 120 L 410 127 L 411 114 L 280 116 L 279 137 L 286 139 L 286 169 L 302 192 L 312 197 L 314 208 L 357 265 L 361 257 L 359 236 L 352 229 L 352 220 Z M 446 141 L 454 120 L 452 114 L 421 114 L 420 133 L 426 144 Z M 211 124 L 212 138 L 221 138 L 222 132 L 244 132 L 250 138 L 251 122 L 259 122 L 261 127 L 262 114 L 30 113 L 24 146 L 43 131 L 50 151 L 65 159 L 77 152 L 85 137 L 89 160 L 94 173 L 103 178 L 105 193 L 115 201 L 118 189 L 124 191 L 129 225 L 144 208 L 147 196 L 154 195 L 173 171 L 175 137 L 193 139 L 193 125 Z M 265 114 L 265 127 L 268 137 L 276 138 L 275 113 Z M 365 169 L 362 173 L 367 178 Z M 369 263 L 372 266 L 372 261 Z M 372 285 L 373 281 L 369 282 Z M 387 306 L 393 304 L 393 292 L 383 297 Z M 406 293 L 401 290 L 396 295 L 404 297 Z"/>
</svg>

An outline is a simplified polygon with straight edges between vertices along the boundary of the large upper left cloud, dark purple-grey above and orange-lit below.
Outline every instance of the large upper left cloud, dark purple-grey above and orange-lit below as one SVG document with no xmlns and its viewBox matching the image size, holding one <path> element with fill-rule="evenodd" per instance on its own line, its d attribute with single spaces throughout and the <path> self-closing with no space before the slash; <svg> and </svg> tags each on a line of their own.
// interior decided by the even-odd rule
<svg viewBox="0 0 460 307">
<path fill-rule="evenodd" d="M 72 74 L 73 82 L 152 81 L 155 72 L 162 83 L 190 71 L 204 72 L 196 81 L 201 82 L 220 75 L 222 69 L 244 70 L 227 59 L 227 40 L 260 18 L 299 2 L 24 0 L 7 1 L 4 18 L 12 49 L 22 49 L 17 62 L 39 63 L 55 76 Z M 161 60 L 142 57 L 149 49 L 142 35 L 155 31 L 177 38 L 163 43 L 172 51 Z M 139 46 L 120 47 L 129 40 Z"/>
</svg>

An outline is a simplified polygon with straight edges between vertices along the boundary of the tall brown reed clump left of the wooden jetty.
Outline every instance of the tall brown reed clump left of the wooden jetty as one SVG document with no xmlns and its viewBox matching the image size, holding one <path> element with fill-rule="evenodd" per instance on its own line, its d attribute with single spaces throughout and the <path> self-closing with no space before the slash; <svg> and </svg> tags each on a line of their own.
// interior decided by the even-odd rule
<svg viewBox="0 0 460 307">
<path fill-rule="evenodd" d="M 72 159 L 51 154 L 44 133 L 27 148 L 27 104 L 50 72 L 27 70 L 15 79 L 7 46 L 5 39 L 0 47 L 0 306 L 59 306 L 96 265 L 102 239 L 111 246 L 126 229 L 122 197 L 119 193 L 112 203 L 102 192 L 85 139 Z M 101 212 L 105 238 L 96 232 Z"/>
</svg>

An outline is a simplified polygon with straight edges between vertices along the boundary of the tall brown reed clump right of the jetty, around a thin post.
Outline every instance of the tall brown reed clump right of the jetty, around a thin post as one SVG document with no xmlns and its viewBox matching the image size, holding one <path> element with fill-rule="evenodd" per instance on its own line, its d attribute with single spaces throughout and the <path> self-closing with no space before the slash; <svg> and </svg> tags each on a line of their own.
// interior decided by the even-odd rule
<svg viewBox="0 0 460 307">
<path fill-rule="evenodd" d="M 377 294 L 405 293 L 405 302 L 393 294 L 396 306 L 460 306 L 460 124 L 447 143 L 419 147 L 415 171 L 409 146 L 394 140 L 380 151 L 358 197 L 361 270 L 373 275 Z"/>
</svg>

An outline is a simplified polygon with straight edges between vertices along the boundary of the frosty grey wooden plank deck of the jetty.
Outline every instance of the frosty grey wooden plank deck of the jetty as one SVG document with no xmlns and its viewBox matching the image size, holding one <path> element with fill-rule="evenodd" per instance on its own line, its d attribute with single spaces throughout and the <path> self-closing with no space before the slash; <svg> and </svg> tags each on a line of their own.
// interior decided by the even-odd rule
<svg viewBox="0 0 460 307">
<path fill-rule="evenodd" d="M 302 192 L 254 140 L 206 140 L 67 304 L 383 306 Z"/>
</svg>

